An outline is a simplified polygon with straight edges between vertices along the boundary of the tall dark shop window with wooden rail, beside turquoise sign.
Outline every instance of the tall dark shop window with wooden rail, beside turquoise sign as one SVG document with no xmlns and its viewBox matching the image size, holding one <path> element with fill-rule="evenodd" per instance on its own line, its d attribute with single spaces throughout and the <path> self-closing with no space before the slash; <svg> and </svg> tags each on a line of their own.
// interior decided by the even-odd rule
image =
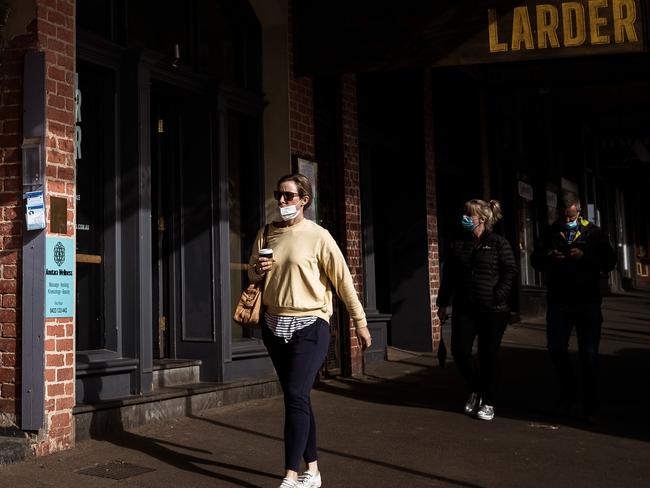
<svg viewBox="0 0 650 488">
<path fill-rule="evenodd" d="M 115 227 L 115 74 L 83 62 L 77 72 L 77 350 L 116 350 L 114 301 L 107 300 L 114 292 L 107 238 Z"/>
</svg>

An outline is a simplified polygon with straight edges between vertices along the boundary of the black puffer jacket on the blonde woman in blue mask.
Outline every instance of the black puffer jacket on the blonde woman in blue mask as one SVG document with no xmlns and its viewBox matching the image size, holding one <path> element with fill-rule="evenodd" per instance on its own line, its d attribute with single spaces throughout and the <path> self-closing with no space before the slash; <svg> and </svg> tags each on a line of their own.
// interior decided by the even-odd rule
<svg viewBox="0 0 650 488">
<path fill-rule="evenodd" d="M 476 311 L 510 310 L 508 298 L 517 276 L 517 264 L 508 241 L 485 231 L 476 240 L 465 232 L 447 254 L 436 304 Z"/>
</svg>

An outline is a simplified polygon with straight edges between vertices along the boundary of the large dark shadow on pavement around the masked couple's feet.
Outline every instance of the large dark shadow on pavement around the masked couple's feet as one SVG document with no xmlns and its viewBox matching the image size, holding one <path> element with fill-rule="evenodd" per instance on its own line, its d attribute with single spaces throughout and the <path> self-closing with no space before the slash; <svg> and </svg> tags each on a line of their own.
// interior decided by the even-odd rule
<svg viewBox="0 0 650 488">
<path fill-rule="evenodd" d="M 545 348 L 543 317 L 509 327 L 501 347 L 502 382 L 497 417 L 650 441 L 650 421 L 645 411 L 650 400 L 649 298 L 650 293 L 637 292 L 608 297 L 603 302 L 602 404 L 591 422 L 555 413 L 557 384 Z M 449 344 L 448 329 L 443 329 L 443 336 Z M 577 373 L 578 357 L 573 344 L 571 360 Z M 367 365 L 365 377 L 321 381 L 317 389 L 368 402 L 462 415 L 468 392 L 453 360 L 441 368 L 432 354 L 397 350 L 393 356 L 390 361 Z"/>
</svg>

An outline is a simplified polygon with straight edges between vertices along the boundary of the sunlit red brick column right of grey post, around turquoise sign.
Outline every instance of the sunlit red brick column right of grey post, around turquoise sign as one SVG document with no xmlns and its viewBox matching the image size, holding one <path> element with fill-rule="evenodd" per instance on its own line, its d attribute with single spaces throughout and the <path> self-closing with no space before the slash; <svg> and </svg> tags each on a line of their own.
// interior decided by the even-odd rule
<svg viewBox="0 0 650 488">
<path fill-rule="evenodd" d="M 75 236 L 75 18 L 74 0 L 37 1 L 38 42 L 46 60 L 46 208 L 50 200 L 67 200 L 67 229 Z M 63 234 L 59 234 L 63 235 Z M 44 455 L 74 445 L 74 318 L 45 322 L 45 427 L 36 445 Z"/>
</svg>

